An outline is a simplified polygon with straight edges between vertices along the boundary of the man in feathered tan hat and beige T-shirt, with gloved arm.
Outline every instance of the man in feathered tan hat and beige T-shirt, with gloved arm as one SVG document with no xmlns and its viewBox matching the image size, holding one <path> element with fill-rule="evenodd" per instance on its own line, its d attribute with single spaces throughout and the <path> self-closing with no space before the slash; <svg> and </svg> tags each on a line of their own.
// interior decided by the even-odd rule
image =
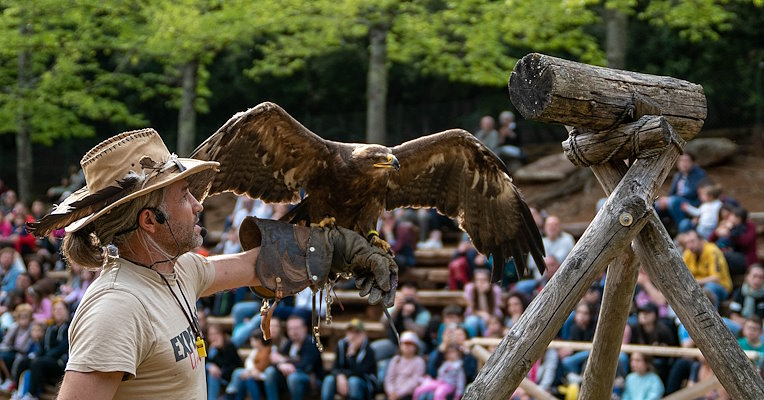
<svg viewBox="0 0 764 400">
<path fill-rule="evenodd" d="M 370 302 L 392 303 L 395 263 L 342 228 L 250 221 L 248 250 L 189 253 L 202 243 L 201 193 L 189 188 L 208 186 L 217 163 L 170 154 L 153 129 L 111 137 L 81 165 L 86 186 L 30 226 L 38 236 L 66 227 L 67 261 L 102 269 L 72 320 L 60 399 L 204 396 L 195 304 L 220 290 L 253 286 L 278 300 L 352 273 L 374 282 Z"/>
</svg>

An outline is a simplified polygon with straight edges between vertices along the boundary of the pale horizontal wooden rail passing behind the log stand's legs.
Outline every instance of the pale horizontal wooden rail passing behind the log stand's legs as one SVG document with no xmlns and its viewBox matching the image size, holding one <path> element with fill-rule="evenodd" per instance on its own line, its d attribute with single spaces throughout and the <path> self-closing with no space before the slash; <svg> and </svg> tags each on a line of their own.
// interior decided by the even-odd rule
<svg viewBox="0 0 764 400">
<path fill-rule="evenodd" d="M 496 338 L 472 338 L 467 341 L 470 346 L 498 346 L 501 344 L 502 339 Z M 553 340 L 549 342 L 547 348 L 550 349 L 568 349 L 573 351 L 585 351 L 591 350 L 594 343 L 592 342 L 572 342 L 568 340 Z M 694 347 L 674 347 L 674 346 L 653 346 L 647 344 L 623 344 L 620 351 L 624 353 L 642 353 L 653 357 L 687 357 L 697 358 L 703 355 L 700 349 Z M 757 351 L 745 351 L 743 352 L 749 360 L 758 360 L 760 357 Z"/>
</svg>

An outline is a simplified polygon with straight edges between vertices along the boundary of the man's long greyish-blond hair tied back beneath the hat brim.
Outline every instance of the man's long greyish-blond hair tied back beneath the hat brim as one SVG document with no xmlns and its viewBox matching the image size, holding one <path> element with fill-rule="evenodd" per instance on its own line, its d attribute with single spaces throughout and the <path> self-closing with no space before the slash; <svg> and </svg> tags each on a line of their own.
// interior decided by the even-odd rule
<svg viewBox="0 0 764 400">
<path fill-rule="evenodd" d="M 64 237 L 61 251 L 68 262 L 86 269 L 100 269 L 103 247 L 114 244 L 118 249 L 136 233 L 138 214 L 148 207 L 163 208 L 167 188 L 161 188 L 115 207 L 90 224 Z"/>
</svg>

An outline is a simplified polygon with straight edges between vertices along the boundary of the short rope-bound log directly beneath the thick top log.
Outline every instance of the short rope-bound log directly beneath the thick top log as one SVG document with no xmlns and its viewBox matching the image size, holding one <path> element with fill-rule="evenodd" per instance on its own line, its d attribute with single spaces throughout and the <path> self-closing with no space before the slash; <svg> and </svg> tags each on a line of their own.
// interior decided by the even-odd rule
<svg viewBox="0 0 764 400">
<path fill-rule="evenodd" d="M 646 115 L 607 132 L 574 130 L 562 142 L 562 150 L 573 164 L 588 167 L 610 160 L 655 157 L 671 144 L 666 118 Z"/>
</svg>

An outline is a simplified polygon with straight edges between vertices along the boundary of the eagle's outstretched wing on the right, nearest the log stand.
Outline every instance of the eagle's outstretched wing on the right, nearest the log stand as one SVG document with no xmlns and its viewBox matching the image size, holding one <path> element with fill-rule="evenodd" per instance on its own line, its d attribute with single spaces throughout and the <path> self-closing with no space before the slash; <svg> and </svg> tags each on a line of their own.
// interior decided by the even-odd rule
<svg viewBox="0 0 764 400">
<path fill-rule="evenodd" d="M 528 253 L 543 272 L 544 245 L 528 206 L 504 163 L 472 134 L 452 129 L 392 150 L 401 170 L 390 177 L 388 209 L 435 207 L 458 218 L 475 247 L 493 254 L 494 282 L 510 257 L 524 275 Z"/>
</svg>

